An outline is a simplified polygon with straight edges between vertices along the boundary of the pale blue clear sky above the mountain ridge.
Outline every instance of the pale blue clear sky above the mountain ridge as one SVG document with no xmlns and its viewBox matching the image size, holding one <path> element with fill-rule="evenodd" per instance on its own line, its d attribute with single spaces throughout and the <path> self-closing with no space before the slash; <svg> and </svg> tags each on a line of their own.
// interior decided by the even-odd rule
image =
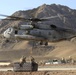
<svg viewBox="0 0 76 75">
<path fill-rule="evenodd" d="M 16 11 L 36 8 L 44 3 L 61 4 L 76 9 L 76 0 L 1 0 L 0 14 L 11 15 Z"/>
</svg>

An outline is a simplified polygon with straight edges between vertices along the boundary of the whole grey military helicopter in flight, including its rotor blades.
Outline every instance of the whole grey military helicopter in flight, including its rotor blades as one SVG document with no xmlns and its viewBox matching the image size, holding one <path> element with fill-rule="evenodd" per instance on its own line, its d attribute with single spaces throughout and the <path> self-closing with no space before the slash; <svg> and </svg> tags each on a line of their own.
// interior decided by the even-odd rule
<svg viewBox="0 0 76 75">
<path fill-rule="evenodd" d="M 39 41 L 40 45 L 48 45 L 48 42 L 57 42 L 60 40 L 70 39 L 76 36 L 76 32 L 72 29 L 66 29 L 62 27 L 58 27 L 54 24 L 51 25 L 43 25 L 38 26 L 38 22 L 48 21 L 52 18 L 56 18 L 57 16 L 51 16 L 46 18 L 22 18 L 16 16 L 7 16 L 9 17 L 3 20 L 21 20 L 21 21 L 30 21 L 28 25 L 20 25 L 18 27 L 10 27 L 6 31 L 4 31 L 3 35 L 5 38 L 16 38 L 21 40 L 34 40 Z"/>
</svg>

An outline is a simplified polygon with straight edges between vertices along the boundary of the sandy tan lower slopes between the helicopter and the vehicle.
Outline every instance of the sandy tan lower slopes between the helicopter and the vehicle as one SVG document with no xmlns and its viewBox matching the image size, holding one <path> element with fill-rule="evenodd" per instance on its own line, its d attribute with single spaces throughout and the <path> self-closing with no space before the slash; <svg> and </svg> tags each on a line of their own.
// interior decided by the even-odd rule
<svg viewBox="0 0 76 75">
<path fill-rule="evenodd" d="M 49 46 L 38 46 L 33 48 L 28 45 L 27 41 L 18 43 L 4 43 L 0 47 L 0 60 L 19 60 L 22 55 L 28 57 L 32 51 L 32 55 L 41 59 L 42 57 L 47 58 L 66 58 L 71 56 L 76 59 L 76 40 L 72 41 L 61 41 L 56 43 L 49 43 Z M 40 58 L 41 56 L 41 58 Z M 42 59 L 41 59 L 42 60 Z"/>
</svg>

